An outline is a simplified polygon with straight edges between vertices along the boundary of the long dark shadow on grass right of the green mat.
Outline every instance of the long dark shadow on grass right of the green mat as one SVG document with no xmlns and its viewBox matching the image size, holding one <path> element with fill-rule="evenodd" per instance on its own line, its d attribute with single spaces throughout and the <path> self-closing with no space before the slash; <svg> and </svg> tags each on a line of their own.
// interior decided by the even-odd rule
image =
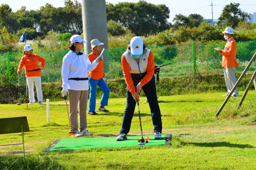
<svg viewBox="0 0 256 170">
<path fill-rule="evenodd" d="M 229 148 L 254 148 L 254 146 L 250 144 L 234 144 L 230 142 L 209 142 L 209 143 L 198 143 L 198 142 L 186 142 L 183 144 L 192 144 L 194 146 L 201 147 L 229 147 Z"/>
</svg>

